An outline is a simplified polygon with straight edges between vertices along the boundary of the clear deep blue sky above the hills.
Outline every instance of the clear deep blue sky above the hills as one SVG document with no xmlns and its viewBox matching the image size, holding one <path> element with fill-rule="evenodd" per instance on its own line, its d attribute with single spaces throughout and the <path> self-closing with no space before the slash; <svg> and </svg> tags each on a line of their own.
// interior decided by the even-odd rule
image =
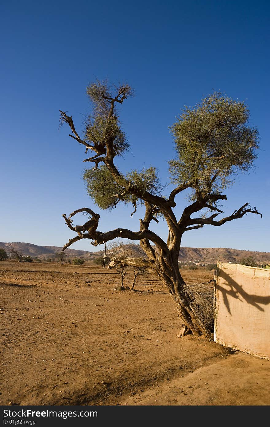
<svg viewBox="0 0 270 427">
<path fill-rule="evenodd" d="M 121 112 L 131 152 L 123 172 L 156 166 L 168 181 L 174 149 L 168 126 L 184 105 L 213 91 L 245 100 L 258 127 L 255 172 L 226 191 L 230 214 L 250 202 L 253 214 L 183 236 L 183 246 L 270 251 L 269 27 L 267 1 L 3 1 L 1 4 L 0 241 L 62 246 L 73 237 L 62 213 L 99 212 L 81 179 L 84 149 L 58 129 L 59 108 L 78 131 L 90 105 L 86 86 L 96 77 L 125 80 L 136 96 Z M 187 203 L 178 196 L 177 212 Z M 139 229 L 131 208 L 99 212 L 99 230 Z M 78 215 L 77 223 L 84 222 Z M 152 229 L 166 239 L 165 222 Z M 100 250 L 89 240 L 74 249 Z"/>
</svg>

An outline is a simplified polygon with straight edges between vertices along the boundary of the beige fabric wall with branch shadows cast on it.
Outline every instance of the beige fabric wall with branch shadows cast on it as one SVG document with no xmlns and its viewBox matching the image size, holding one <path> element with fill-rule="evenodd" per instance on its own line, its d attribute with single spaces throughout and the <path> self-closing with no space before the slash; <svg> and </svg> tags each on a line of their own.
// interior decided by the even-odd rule
<svg viewBox="0 0 270 427">
<path fill-rule="evenodd" d="M 270 360 L 270 270 L 218 263 L 214 302 L 215 342 Z"/>
</svg>

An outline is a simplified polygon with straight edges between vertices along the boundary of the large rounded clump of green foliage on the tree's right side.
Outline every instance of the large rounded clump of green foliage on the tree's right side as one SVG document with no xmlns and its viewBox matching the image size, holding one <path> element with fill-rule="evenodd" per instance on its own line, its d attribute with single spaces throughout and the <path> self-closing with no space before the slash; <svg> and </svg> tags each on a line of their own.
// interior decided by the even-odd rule
<svg viewBox="0 0 270 427">
<path fill-rule="evenodd" d="M 197 193 L 220 193 L 257 158 L 258 131 L 247 125 L 244 102 L 215 92 L 195 108 L 186 107 L 171 132 L 178 158 L 169 162 L 172 181 Z"/>
</svg>

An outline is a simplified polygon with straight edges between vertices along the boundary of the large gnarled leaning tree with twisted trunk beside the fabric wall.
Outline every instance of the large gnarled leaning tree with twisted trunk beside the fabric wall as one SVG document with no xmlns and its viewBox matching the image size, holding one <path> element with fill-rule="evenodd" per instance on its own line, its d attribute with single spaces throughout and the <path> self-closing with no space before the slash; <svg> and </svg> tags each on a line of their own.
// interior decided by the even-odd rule
<svg viewBox="0 0 270 427">
<path fill-rule="evenodd" d="M 133 95 L 132 89 L 126 84 L 110 88 L 107 82 L 97 81 L 87 87 L 87 94 L 93 112 L 85 122 L 83 135 L 78 134 L 67 112 L 60 111 L 60 120 L 68 124 L 70 137 L 84 146 L 86 153 L 88 150 L 94 152 L 84 159 L 84 162 L 95 165 L 84 173 L 88 193 L 100 209 L 111 209 L 123 202 L 131 203 L 135 212 L 138 203 L 142 203 L 145 214 L 139 219 L 136 231 L 122 228 L 121 224 L 115 230 L 97 231 L 100 215 L 89 208 L 77 209 L 68 217 L 64 214 L 66 224 L 76 236 L 64 245 L 63 250 L 80 239 L 90 239 L 94 246 L 116 237 L 139 241 L 147 257 L 129 258 L 125 263 L 147 267 L 165 285 L 182 323 L 178 336 L 188 332 L 209 334 L 196 316 L 192 295 L 180 275 L 178 255 L 186 232 L 205 225 L 220 227 L 247 213 L 261 215 L 249 203 L 228 216 L 222 216 L 224 212 L 221 210 L 221 203 L 227 200 L 224 189 L 232 185 L 236 174 L 248 172 L 257 157 L 258 131 L 248 123 L 247 106 L 244 102 L 214 93 L 194 108 L 184 109 L 171 126 L 175 157 L 169 162 L 169 171 L 174 188 L 164 195 L 164 187 L 154 167 L 125 173 L 116 164 L 117 156 L 129 148 L 117 106 Z M 177 195 L 185 190 L 189 191 L 189 202 L 176 216 Z M 73 216 L 78 212 L 89 214 L 84 225 L 73 225 Z M 158 222 L 160 216 L 168 225 L 167 241 L 150 229 L 151 222 Z"/>
</svg>

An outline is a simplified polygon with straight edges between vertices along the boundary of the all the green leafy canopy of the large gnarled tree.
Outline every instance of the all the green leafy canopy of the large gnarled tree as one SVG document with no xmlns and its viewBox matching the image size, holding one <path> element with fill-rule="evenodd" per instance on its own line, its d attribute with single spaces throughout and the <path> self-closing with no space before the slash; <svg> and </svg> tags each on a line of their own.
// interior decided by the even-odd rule
<svg viewBox="0 0 270 427">
<path fill-rule="evenodd" d="M 165 187 L 154 167 L 115 175 L 107 164 L 99 163 L 109 143 L 113 146 L 113 157 L 129 149 L 115 104 L 122 104 L 133 92 L 128 85 L 120 85 L 116 92 L 113 98 L 107 82 L 98 81 L 87 88 L 93 114 L 85 123 L 85 140 L 94 143 L 98 159 L 88 159 L 96 162 L 96 167 L 86 169 L 83 178 L 89 196 L 99 208 L 112 209 L 121 201 L 131 202 L 136 210 L 136 203 L 145 192 L 162 196 Z M 209 95 L 194 108 L 185 107 L 170 127 L 176 150 L 176 157 L 169 161 L 171 182 L 192 189 L 191 199 L 196 200 L 221 193 L 233 184 L 238 172 L 253 168 L 258 131 L 249 126 L 249 116 L 244 102 L 220 92 Z M 211 202 L 211 198 L 208 201 L 217 203 L 214 199 Z"/>
</svg>

